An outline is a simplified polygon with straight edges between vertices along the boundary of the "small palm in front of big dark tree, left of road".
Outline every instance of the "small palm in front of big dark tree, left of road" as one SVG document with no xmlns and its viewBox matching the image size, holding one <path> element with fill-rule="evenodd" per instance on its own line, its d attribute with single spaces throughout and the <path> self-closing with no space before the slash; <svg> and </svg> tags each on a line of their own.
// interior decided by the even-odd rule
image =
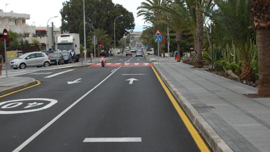
<svg viewBox="0 0 270 152">
<path fill-rule="evenodd" d="M 93 36 L 96 36 L 96 39 L 98 41 L 98 44 L 102 44 L 103 46 L 105 45 L 110 45 L 111 42 L 113 41 L 111 37 L 106 34 L 107 32 L 104 29 L 94 29 L 93 32 L 91 32 L 90 36 L 88 36 L 89 40 L 92 40 Z M 99 56 L 101 50 L 98 47 L 98 53 L 97 55 Z"/>
</svg>

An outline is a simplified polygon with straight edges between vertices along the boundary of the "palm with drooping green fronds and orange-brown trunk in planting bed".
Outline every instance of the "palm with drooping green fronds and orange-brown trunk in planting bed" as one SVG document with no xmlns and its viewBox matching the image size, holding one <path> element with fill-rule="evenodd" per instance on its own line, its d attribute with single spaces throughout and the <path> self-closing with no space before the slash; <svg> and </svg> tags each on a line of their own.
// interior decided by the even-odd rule
<svg viewBox="0 0 270 152">
<path fill-rule="evenodd" d="M 252 24 L 249 18 L 249 0 L 227 0 L 215 1 L 217 10 L 212 9 L 208 16 L 217 26 L 217 30 L 224 33 L 226 39 L 233 41 L 240 51 L 243 64 L 241 79 L 253 81 L 252 68 L 250 66 L 249 43 L 252 36 L 252 30 L 249 25 Z"/>
</svg>

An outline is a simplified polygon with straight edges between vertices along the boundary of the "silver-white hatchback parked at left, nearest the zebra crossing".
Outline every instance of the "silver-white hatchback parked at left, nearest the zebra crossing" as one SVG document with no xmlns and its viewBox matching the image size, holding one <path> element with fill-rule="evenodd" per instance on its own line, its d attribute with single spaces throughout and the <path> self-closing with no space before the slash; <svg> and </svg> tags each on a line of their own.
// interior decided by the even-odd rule
<svg viewBox="0 0 270 152">
<path fill-rule="evenodd" d="M 10 68 L 24 69 L 26 67 L 48 67 L 50 66 L 49 57 L 43 52 L 30 52 L 25 53 L 10 62 Z"/>
</svg>

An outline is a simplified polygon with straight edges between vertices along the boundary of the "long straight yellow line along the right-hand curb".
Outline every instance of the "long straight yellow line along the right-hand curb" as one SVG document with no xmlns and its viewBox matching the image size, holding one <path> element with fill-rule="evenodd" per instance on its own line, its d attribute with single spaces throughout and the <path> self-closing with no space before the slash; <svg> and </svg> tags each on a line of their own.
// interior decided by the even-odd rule
<svg viewBox="0 0 270 152">
<path fill-rule="evenodd" d="M 164 88 L 165 92 L 167 93 L 169 99 L 171 100 L 173 106 L 175 107 L 175 109 L 178 112 L 179 116 L 183 120 L 183 123 L 187 127 L 187 130 L 189 131 L 189 133 L 191 134 L 192 138 L 196 142 L 196 144 L 197 144 L 198 148 L 200 149 L 200 151 L 202 151 L 202 152 L 210 152 L 208 146 L 205 144 L 205 142 L 203 141 L 203 139 L 200 136 L 200 134 L 198 133 L 198 131 L 195 129 L 195 127 L 193 126 L 193 124 L 188 119 L 187 115 L 181 109 L 181 107 L 179 106 L 178 102 L 173 97 L 172 93 L 169 91 L 169 89 L 167 88 L 167 86 L 161 80 L 160 76 L 156 72 L 156 69 L 153 66 L 151 66 L 151 68 L 153 69 L 154 73 L 156 74 L 157 79 L 159 80 L 160 84 L 162 85 L 162 87 Z"/>
</svg>

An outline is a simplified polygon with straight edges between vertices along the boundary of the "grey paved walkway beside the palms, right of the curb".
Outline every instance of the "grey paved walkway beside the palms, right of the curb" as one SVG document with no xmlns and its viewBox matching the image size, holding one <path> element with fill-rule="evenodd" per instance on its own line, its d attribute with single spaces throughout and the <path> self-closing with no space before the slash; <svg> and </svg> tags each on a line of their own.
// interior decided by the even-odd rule
<svg viewBox="0 0 270 152">
<path fill-rule="evenodd" d="M 237 151 L 270 151 L 270 98 L 248 98 L 257 88 L 183 63 L 155 64 L 219 136 Z"/>
</svg>

